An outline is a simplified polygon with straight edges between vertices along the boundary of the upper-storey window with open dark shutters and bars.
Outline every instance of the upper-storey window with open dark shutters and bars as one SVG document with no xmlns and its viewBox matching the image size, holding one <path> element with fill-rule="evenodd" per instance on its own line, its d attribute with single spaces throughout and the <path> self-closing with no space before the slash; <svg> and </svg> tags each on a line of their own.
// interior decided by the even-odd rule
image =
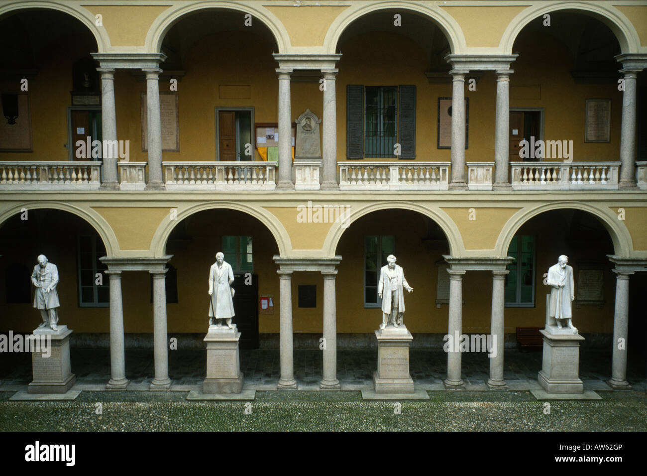
<svg viewBox="0 0 647 476">
<path fill-rule="evenodd" d="M 415 85 L 349 84 L 346 95 L 348 159 L 415 159 Z"/>
</svg>

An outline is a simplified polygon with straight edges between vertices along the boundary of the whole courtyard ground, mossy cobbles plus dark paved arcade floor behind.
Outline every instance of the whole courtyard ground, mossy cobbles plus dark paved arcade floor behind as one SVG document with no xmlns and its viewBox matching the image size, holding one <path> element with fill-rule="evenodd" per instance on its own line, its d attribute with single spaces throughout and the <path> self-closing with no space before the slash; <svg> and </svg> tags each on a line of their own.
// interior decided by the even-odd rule
<svg viewBox="0 0 647 476">
<path fill-rule="evenodd" d="M 318 391 L 322 355 L 296 350 L 294 371 L 300 391 L 274 391 L 279 376 L 278 350 L 241 350 L 245 389 L 255 389 L 253 401 L 188 401 L 188 391 L 200 389 L 205 375 L 204 350 L 169 352 L 173 387 L 150 392 L 153 350 L 126 352 L 127 391 L 105 391 L 110 375 L 107 349 L 71 349 L 73 401 L 9 401 L 30 381 L 29 354 L 4 354 L 0 366 L 0 431 L 647 431 L 644 368 L 629 363 L 633 391 L 611 391 L 611 358 L 605 352 L 583 352 L 580 376 L 585 389 L 602 400 L 538 402 L 541 352 L 506 349 L 504 377 L 509 391 L 487 391 L 489 361 L 485 354 L 463 354 L 465 391 L 446 391 L 442 379 L 446 354 L 411 350 L 411 377 L 430 400 L 364 401 L 362 389 L 372 389 L 377 366 L 375 350 L 339 350 L 338 378 L 342 391 Z M 4 365 L 8 364 L 8 365 Z M 96 414 L 102 403 L 102 414 Z M 398 407 L 398 404 L 400 405 Z M 247 412 L 246 412 L 247 410 Z M 398 411 L 400 413 L 398 413 Z"/>
</svg>

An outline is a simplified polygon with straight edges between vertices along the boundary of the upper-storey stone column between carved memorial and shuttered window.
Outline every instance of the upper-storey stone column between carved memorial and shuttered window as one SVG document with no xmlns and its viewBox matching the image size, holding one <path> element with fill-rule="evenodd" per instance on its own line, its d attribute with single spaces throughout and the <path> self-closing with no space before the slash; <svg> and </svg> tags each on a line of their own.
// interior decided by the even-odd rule
<svg viewBox="0 0 647 476">
<path fill-rule="evenodd" d="M 336 69 L 323 73 L 323 180 L 322 190 L 339 190 L 337 183 L 337 100 L 335 93 Z"/>
</svg>

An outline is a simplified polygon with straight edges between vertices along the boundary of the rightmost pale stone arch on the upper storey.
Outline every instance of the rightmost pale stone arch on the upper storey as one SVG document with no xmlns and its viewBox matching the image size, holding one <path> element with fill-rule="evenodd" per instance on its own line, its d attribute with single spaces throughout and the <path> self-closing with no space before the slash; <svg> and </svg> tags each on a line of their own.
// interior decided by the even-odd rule
<svg viewBox="0 0 647 476">
<path fill-rule="evenodd" d="M 623 53 L 638 52 L 641 48 L 641 41 L 635 27 L 629 19 L 616 8 L 607 8 L 604 5 L 595 5 L 592 2 L 569 1 L 551 3 L 549 5 L 536 5 L 521 11 L 505 28 L 499 48 L 502 54 L 512 54 L 514 40 L 532 20 L 543 16 L 543 14 L 556 12 L 558 10 L 569 10 L 594 17 L 608 26 L 620 43 L 620 50 Z"/>
</svg>

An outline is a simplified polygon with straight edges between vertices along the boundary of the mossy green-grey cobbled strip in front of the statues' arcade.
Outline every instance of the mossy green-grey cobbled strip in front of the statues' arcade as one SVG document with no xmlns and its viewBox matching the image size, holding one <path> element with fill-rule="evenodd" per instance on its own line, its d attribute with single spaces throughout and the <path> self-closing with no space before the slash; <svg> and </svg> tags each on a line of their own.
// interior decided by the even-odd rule
<svg viewBox="0 0 647 476">
<path fill-rule="evenodd" d="M 186 392 L 84 391 L 73 402 L 8 402 L 12 393 L 0 391 L 0 431 L 647 431 L 644 392 L 550 402 L 549 414 L 529 392 L 367 402 L 357 391 L 267 391 L 254 402 L 188 402 Z"/>
</svg>

